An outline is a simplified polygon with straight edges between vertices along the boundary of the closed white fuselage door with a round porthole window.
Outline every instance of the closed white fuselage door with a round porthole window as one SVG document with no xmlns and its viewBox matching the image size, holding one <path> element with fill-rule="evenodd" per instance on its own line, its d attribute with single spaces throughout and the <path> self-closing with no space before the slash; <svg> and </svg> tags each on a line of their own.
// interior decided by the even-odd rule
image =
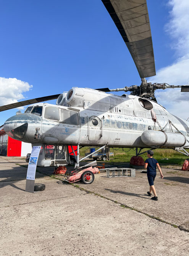
<svg viewBox="0 0 189 256">
<path fill-rule="evenodd" d="M 102 122 L 96 116 L 89 119 L 89 140 L 99 140 L 102 136 Z"/>
</svg>

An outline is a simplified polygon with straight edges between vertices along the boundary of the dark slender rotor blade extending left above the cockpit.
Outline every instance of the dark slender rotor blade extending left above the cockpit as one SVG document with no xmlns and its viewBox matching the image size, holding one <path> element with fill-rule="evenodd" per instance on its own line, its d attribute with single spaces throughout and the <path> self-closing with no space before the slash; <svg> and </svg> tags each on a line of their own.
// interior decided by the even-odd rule
<svg viewBox="0 0 189 256">
<path fill-rule="evenodd" d="M 27 99 L 26 101 L 20 101 L 20 102 L 11 103 L 11 104 L 8 104 L 5 106 L 0 106 L 0 112 L 8 110 L 8 109 L 14 109 L 16 107 L 22 107 L 22 106 L 34 104 L 37 102 L 50 101 L 52 99 L 57 99 L 59 95 L 60 94 L 55 94 L 55 95 L 40 97 L 40 98 L 36 98 L 36 99 Z"/>
</svg>

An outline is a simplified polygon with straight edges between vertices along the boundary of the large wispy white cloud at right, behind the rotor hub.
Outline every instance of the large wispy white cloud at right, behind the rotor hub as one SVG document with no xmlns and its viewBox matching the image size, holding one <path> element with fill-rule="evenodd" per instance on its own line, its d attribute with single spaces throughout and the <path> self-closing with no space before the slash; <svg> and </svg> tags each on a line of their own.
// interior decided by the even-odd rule
<svg viewBox="0 0 189 256">
<path fill-rule="evenodd" d="M 166 24 L 166 32 L 173 39 L 171 48 L 175 51 L 176 60 L 170 66 L 157 71 L 157 75 L 149 79 L 152 83 L 168 83 L 171 85 L 189 84 L 189 1 L 170 0 L 170 22 Z M 157 101 L 166 109 L 183 119 L 189 117 L 189 92 L 181 89 L 165 89 L 155 92 Z"/>
</svg>

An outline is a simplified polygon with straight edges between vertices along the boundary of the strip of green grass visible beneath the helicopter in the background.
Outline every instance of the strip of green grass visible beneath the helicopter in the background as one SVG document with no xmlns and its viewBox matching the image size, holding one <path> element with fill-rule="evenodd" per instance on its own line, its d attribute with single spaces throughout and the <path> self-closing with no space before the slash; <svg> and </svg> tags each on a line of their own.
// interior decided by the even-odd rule
<svg viewBox="0 0 189 256">
<path fill-rule="evenodd" d="M 84 147 L 80 149 L 80 157 L 84 157 L 85 150 L 88 147 Z M 141 152 L 146 151 L 147 149 L 143 149 Z M 130 162 L 130 159 L 133 155 L 136 155 L 135 149 L 112 149 L 110 148 L 110 152 L 114 152 L 114 157 L 110 158 L 110 162 Z M 189 158 L 186 155 L 183 155 L 173 149 L 155 149 L 154 151 L 154 158 L 158 160 L 160 164 L 167 164 L 167 165 L 183 165 L 184 160 Z M 189 150 L 187 150 L 189 152 Z M 147 153 L 140 155 L 144 160 L 147 159 Z M 162 159 L 162 158 L 168 158 Z"/>
</svg>

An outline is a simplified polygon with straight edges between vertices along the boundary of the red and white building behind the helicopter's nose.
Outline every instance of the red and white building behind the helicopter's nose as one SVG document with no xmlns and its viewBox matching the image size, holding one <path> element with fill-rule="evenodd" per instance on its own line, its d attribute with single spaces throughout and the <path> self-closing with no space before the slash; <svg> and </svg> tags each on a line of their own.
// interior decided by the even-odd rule
<svg viewBox="0 0 189 256">
<path fill-rule="evenodd" d="M 31 143 L 22 142 L 12 139 L 0 126 L 0 155 L 7 157 L 26 157 L 27 153 L 31 153 Z"/>
</svg>

